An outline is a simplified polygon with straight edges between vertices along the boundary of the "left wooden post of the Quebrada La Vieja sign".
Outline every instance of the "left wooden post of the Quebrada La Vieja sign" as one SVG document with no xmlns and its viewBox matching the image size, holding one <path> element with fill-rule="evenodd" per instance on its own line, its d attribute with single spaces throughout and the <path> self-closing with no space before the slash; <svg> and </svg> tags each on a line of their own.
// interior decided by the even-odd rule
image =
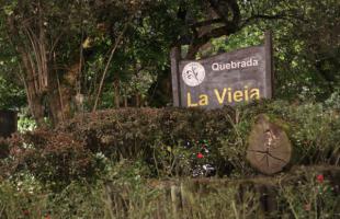
<svg viewBox="0 0 340 219">
<path fill-rule="evenodd" d="M 172 99 L 173 106 L 181 106 L 181 87 L 179 62 L 181 60 L 181 48 L 173 47 L 170 54 L 171 58 L 171 79 L 172 79 Z"/>
</svg>

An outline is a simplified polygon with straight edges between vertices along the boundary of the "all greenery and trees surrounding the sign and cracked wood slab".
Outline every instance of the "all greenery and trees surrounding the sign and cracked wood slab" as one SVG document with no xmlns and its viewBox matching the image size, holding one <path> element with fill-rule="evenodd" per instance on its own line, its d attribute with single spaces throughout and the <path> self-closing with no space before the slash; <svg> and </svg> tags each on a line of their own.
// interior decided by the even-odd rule
<svg viewBox="0 0 340 219">
<path fill-rule="evenodd" d="M 340 216 L 339 0 L 0 4 L 0 110 L 21 112 L 0 138 L 0 218 Z M 172 47 L 200 59 L 267 30 L 275 100 L 170 107 Z M 293 145 L 274 177 L 246 161 L 260 114 Z"/>
</svg>

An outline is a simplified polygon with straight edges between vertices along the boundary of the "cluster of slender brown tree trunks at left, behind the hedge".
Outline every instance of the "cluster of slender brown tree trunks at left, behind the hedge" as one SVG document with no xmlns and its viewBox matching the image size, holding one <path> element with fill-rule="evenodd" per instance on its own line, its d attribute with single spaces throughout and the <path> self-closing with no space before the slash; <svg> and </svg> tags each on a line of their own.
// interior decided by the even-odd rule
<svg viewBox="0 0 340 219">
<path fill-rule="evenodd" d="M 45 116 L 50 116 L 56 125 L 71 117 L 80 61 L 72 65 L 59 80 L 60 72 L 53 70 L 56 61 L 52 56 L 53 50 L 49 50 L 53 48 L 48 48 L 44 13 L 39 4 L 36 18 L 23 25 L 14 15 L 9 16 L 9 33 L 18 36 L 12 43 L 21 58 L 22 79 L 32 116 L 38 126 L 44 126 Z"/>
</svg>

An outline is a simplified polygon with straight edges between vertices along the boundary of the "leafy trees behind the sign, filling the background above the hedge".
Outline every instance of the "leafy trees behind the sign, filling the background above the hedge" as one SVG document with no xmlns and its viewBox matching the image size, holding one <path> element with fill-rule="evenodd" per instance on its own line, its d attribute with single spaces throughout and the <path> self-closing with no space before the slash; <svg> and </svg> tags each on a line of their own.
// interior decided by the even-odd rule
<svg viewBox="0 0 340 219">
<path fill-rule="evenodd" d="M 172 47 L 194 59 L 274 35 L 275 96 L 339 92 L 337 0 L 1 0 L 1 107 L 57 124 L 81 111 L 171 103 Z M 13 101 L 13 99 L 18 101 Z M 26 101 L 24 101 L 26 100 Z"/>
</svg>

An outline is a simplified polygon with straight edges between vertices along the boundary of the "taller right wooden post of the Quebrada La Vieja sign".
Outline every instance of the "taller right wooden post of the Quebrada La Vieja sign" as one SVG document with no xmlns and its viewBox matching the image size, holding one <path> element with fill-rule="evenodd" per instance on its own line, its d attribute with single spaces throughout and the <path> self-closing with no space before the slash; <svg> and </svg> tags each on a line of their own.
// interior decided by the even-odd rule
<svg viewBox="0 0 340 219">
<path fill-rule="evenodd" d="M 265 48 L 265 87 L 267 87 L 265 93 L 269 99 L 272 99 L 274 93 L 272 32 L 267 31 L 264 33 L 264 38 L 265 38 L 264 48 Z"/>
</svg>

